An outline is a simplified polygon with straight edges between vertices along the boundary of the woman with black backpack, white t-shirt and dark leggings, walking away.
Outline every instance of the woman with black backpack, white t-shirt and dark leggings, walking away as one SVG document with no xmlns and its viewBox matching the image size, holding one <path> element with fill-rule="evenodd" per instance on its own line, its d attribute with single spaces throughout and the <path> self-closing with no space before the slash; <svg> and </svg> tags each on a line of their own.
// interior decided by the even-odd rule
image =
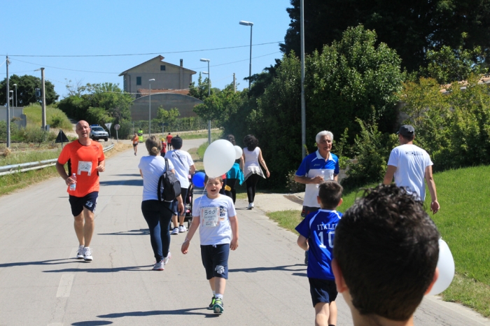
<svg viewBox="0 0 490 326">
<path fill-rule="evenodd" d="M 153 270 L 163 271 L 165 264 L 169 262 L 171 257 L 169 229 L 172 220 L 172 201 L 158 200 L 158 179 L 167 171 L 165 159 L 160 156 L 162 143 L 155 136 L 151 136 L 146 139 L 146 149 L 148 156 L 141 157 L 138 165 L 139 173 L 143 178 L 141 212 L 150 229 L 151 248 L 153 248 L 156 259 Z M 175 173 L 172 162 L 169 161 L 168 164 L 168 169 Z M 182 197 L 179 195 L 177 200 L 179 201 L 179 211 L 183 212 Z"/>
</svg>

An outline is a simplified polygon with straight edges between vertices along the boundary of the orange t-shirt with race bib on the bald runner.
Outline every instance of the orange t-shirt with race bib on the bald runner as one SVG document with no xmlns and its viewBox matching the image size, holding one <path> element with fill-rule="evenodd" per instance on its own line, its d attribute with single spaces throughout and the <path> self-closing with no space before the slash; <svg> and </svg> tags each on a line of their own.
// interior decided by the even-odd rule
<svg viewBox="0 0 490 326">
<path fill-rule="evenodd" d="M 59 164 L 68 163 L 68 175 L 76 173 L 76 189 L 66 190 L 71 196 L 84 197 L 90 192 L 99 191 L 99 162 L 106 159 L 104 148 L 97 141 L 91 141 L 89 146 L 83 146 L 78 140 L 64 146 L 59 154 Z"/>
</svg>

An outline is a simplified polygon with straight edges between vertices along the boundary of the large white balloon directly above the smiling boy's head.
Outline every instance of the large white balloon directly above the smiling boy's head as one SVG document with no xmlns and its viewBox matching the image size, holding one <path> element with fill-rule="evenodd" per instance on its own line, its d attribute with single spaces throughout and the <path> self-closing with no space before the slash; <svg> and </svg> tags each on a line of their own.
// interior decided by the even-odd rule
<svg viewBox="0 0 490 326">
<path fill-rule="evenodd" d="M 223 176 L 235 163 L 235 148 L 230 141 L 218 139 L 208 146 L 202 162 L 209 178 Z"/>
</svg>

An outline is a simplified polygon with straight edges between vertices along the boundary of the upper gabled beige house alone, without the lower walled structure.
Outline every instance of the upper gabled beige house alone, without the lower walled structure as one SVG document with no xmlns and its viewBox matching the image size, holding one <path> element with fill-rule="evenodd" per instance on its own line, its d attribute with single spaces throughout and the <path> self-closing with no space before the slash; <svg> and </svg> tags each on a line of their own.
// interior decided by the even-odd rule
<svg viewBox="0 0 490 326">
<path fill-rule="evenodd" d="M 152 94 L 153 90 L 160 93 L 188 89 L 196 72 L 184 68 L 183 59 L 180 66 L 164 62 L 163 59 L 165 58 L 159 55 L 120 73 L 119 76 L 124 78 L 124 91 L 137 97 L 138 90 L 150 88 L 150 79 L 155 79 L 151 82 Z"/>
</svg>

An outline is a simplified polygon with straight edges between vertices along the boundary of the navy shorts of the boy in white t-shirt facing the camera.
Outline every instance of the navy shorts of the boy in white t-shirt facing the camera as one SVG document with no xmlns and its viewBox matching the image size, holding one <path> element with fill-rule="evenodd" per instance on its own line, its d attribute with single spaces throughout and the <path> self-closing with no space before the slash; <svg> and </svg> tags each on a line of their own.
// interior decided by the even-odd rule
<svg viewBox="0 0 490 326">
<path fill-rule="evenodd" d="M 201 246 L 201 259 L 206 269 L 207 280 L 214 277 L 228 280 L 228 255 L 230 255 L 230 243 Z"/>
</svg>

